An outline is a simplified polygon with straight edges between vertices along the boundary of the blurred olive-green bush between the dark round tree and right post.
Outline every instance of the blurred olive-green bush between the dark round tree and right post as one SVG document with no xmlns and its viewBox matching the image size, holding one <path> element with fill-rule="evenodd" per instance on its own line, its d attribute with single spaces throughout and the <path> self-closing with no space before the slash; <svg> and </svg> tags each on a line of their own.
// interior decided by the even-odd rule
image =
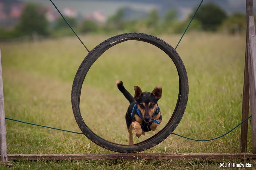
<svg viewBox="0 0 256 170">
<path fill-rule="evenodd" d="M 234 34 L 246 31 L 246 14 L 234 13 L 229 16 L 221 25 L 221 29 Z"/>
</svg>

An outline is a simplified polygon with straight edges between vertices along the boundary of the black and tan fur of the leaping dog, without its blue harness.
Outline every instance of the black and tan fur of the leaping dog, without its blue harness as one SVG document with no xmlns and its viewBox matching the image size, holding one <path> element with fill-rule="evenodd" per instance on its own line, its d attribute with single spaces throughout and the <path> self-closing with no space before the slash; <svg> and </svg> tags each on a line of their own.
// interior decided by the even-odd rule
<svg viewBox="0 0 256 170">
<path fill-rule="evenodd" d="M 122 92 L 125 98 L 130 102 L 130 105 L 127 109 L 125 120 L 126 126 L 129 133 L 129 145 L 133 145 L 133 129 L 135 130 L 135 135 L 139 138 L 142 134 L 145 135 L 145 131 L 156 130 L 159 124 L 151 122 L 152 119 L 162 121 L 162 115 L 160 112 L 160 108 L 157 109 L 157 101 L 162 97 L 162 87 L 157 86 L 154 90 L 150 92 L 142 92 L 141 88 L 138 86 L 134 86 L 134 97 L 125 89 L 123 86 L 123 82 L 118 80 L 116 82 L 118 89 Z M 133 106 L 137 104 L 139 111 L 141 112 L 141 119 L 137 111 L 133 112 L 133 116 L 131 116 L 131 112 L 133 111 Z"/>
</svg>

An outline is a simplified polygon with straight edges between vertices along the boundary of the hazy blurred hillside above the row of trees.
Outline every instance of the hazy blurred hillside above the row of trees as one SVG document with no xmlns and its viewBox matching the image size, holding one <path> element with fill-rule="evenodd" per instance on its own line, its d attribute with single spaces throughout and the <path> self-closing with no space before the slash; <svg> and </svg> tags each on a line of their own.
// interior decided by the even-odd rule
<svg viewBox="0 0 256 170">
<path fill-rule="evenodd" d="M 9 0 L 5 0 L 9 1 Z M 22 2 L 41 3 L 51 6 L 49 0 L 19 0 Z M 153 8 L 157 9 L 161 15 L 166 10 L 175 9 L 178 12 L 178 18 L 184 19 L 198 6 L 201 0 L 54 0 L 59 8 L 72 7 L 82 15 L 86 15 L 95 10 L 101 10 L 106 16 L 112 15 L 118 8 L 126 8 L 133 11 L 134 16 L 145 15 Z M 220 5 L 229 14 L 232 12 L 245 12 L 245 0 L 204 0 L 203 3 L 214 2 Z M 256 4 L 256 0 L 254 0 Z M 256 9 L 256 5 L 254 6 Z"/>
</svg>

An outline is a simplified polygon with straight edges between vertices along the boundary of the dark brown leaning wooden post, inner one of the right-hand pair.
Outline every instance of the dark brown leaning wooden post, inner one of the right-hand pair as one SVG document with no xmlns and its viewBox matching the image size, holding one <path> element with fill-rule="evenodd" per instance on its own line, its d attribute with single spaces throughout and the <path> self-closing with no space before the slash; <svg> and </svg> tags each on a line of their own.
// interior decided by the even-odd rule
<svg viewBox="0 0 256 170">
<path fill-rule="evenodd" d="M 253 4 L 246 0 L 246 18 L 247 18 L 247 30 L 246 30 L 246 48 L 245 48 L 245 72 L 243 81 L 243 105 L 242 105 L 242 121 L 249 115 L 249 68 L 248 62 L 250 57 L 250 45 L 249 45 L 249 16 L 252 14 L 250 6 Z M 241 137 L 240 148 L 241 152 L 247 151 L 247 133 L 248 133 L 248 121 L 245 121 L 241 125 Z"/>
</svg>

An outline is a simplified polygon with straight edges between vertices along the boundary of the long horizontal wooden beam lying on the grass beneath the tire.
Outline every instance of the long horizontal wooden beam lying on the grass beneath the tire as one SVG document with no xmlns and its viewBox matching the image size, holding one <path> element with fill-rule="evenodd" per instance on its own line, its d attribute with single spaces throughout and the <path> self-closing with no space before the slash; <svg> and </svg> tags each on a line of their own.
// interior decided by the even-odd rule
<svg viewBox="0 0 256 170">
<path fill-rule="evenodd" d="M 187 153 L 187 154 L 9 154 L 9 160 L 136 160 L 136 159 L 246 159 L 253 153 Z"/>
</svg>

